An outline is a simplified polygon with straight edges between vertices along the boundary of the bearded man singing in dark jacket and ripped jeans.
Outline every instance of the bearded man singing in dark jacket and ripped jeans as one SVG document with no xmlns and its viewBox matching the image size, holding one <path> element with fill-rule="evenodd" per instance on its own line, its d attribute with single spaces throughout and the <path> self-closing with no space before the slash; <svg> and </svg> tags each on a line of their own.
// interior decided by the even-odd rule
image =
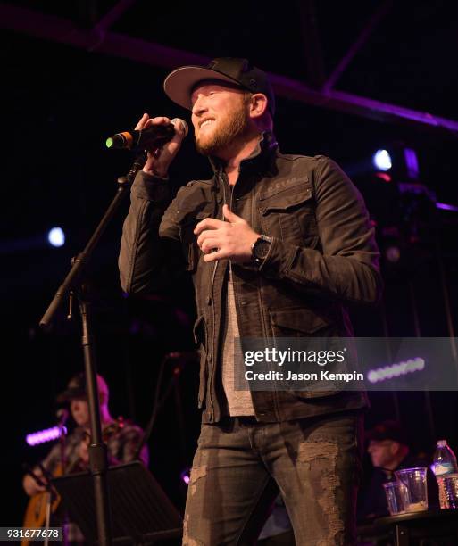
<svg viewBox="0 0 458 546">
<path fill-rule="evenodd" d="M 191 112 L 212 178 L 171 201 L 177 124 L 131 187 L 119 265 L 129 294 L 193 278 L 203 413 L 183 543 L 253 542 L 279 490 L 297 544 L 353 543 L 365 394 L 236 390 L 234 339 L 352 335 L 347 303 L 381 285 L 362 196 L 329 158 L 279 152 L 270 79 L 246 59 L 180 67 L 164 90 Z M 145 113 L 137 129 L 170 122 Z"/>
</svg>

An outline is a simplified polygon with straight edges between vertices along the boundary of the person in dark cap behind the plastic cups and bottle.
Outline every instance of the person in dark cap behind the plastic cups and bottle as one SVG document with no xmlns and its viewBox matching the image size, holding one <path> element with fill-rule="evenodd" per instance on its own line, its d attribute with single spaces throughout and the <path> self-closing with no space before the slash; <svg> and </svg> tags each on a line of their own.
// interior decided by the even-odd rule
<svg viewBox="0 0 458 546">
<path fill-rule="evenodd" d="M 373 466 L 371 479 L 362 488 L 358 499 L 358 519 L 388 516 L 387 497 L 383 484 L 396 479 L 396 470 L 403 468 L 427 467 L 429 509 L 438 508 L 438 490 L 431 461 L 411 452 L 410 441 L 399 421 L 387 419 L 374 426 L 366 434 L 367 452 Z"/>
</svg>

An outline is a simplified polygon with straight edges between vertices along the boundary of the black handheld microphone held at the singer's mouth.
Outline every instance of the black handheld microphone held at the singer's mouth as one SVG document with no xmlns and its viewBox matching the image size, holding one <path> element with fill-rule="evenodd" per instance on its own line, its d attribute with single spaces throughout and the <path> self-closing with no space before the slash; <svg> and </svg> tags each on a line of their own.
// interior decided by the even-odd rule
<svg viewBox="0 0 458 546">
<path fill-rule="evenodd" d="M 185 136 L 187 136 L 189 131 L 187 122 L 179 118 L 173 118 L 167 125 L 152 125 L 139 131 L 133 130 L 116 133 L 116 135 L 107 138 L 105 144 L 107 148 L 126 148 L 128 150 L 149 146 L 161 148 L 175 136 L 175 126 L 179 123 L 185 130 Z"/>
</svg>

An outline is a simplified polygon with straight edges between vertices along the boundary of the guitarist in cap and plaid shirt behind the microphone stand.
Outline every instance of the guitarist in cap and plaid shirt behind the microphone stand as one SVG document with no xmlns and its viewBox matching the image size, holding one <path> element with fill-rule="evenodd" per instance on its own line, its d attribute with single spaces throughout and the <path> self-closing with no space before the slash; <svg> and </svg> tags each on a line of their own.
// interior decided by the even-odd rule
<svg viewBox="0 0 458 546">
<path fill-rule="evenodd" d="M 137 446 L 143 439 L 143 430 L 132 422 L 124 421 L 122 418 L 112 418 L 108 409 L 109 389 L 104 377 L 97 375 L 97 386 L 104 442 L 108 448 L 108 464 L 114 466 L 129 462 L 134 459 Z M 46 469 L 47 475 L 52 476 L 62 476 L 63 474 L 87 470 L 89 466 L 87 450 L 89 445 L 89 408 L 86 377 L 83 373 L 71 378 L 67 389 L 57 397 L 57 402 L 70 406 L 71 417 L 75 421 L 76 427 L 65 438 L 63 446 L 61 442 L 54 445 L 41 462 L 41 466 Z M 143 447 L 139 459 L 146 466 L 148 465 L 148 449 L 146 446 Z M 43 475 L 40 466 L 35 467 L 33 472 L 43 484 L 46 484 L 46 476 Z M 24 526 L 44 525 L 45 485 L 38 484 L 35 478 L 27 474 L 22 480 L 22 486 L 24 491 L 31 497 Z M 40 497 L 43 497 L 43 499 Z M 42 521 L 38 521 L 40 519 Z M 76 525 L 69 526 L 68 539 L 71 542 L 79 542 L 82 539 Z"/>
</svg>

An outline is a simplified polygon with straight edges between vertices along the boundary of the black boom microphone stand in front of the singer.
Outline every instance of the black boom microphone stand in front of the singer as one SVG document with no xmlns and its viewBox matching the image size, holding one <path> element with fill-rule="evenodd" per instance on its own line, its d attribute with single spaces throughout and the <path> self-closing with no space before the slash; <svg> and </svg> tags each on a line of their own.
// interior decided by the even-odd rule
<svg viewBox="0 0 458 546">
<path fill-rule="evenodd" d="M 109 225 L 114 213 L 117 211 L 124 199 L 129 186 L 133 182 L 138 170 L 141 170 L 146 161 L 146 153 L 141 153 L 133 162 L 129 173 L 118 178 L 118 189 L 112 203 L 100 220 L 96 231 L 89 239 L 83 252 L 80 252 L 72 260 L 71 270 L 65 277 L 62 285 L 54 294 L 52 302 L 40 320 L 41 327 L 48 327 L 54 318 L 55 312 L 62 305 L 63 300 L 69 292 L 77 294 L 79 299 L 79 314 L 82 322 L 81 344 L 84 353 L 84 364 L 86 372 L 87 401 L 89 406 L 91 444 L 89 446 L 89 469 L 93 477 L 94 498 L 96 505 L 96 525 L 99 546 L 110 546 L 112 544 L 111 512 L 108 494 L 108 457 L 106 445 L 102 437 L 102 425 L 100 420 L 100 407 L 96 378 L 96 357 L 91 332 L 91 302 L 87 294 L 87 287 L 84 283 L 83 272 L 92 253 L 96 249 L 104 230 Z"/>
</svg>

